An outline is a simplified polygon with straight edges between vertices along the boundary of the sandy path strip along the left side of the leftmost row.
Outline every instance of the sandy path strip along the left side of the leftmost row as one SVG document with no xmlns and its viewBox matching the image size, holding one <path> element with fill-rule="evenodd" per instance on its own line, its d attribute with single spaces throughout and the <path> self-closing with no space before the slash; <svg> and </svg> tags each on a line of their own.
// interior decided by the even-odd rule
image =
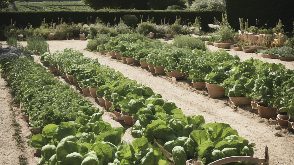
<svg viewBox="0 0 294 165">
<path fill-rule="evenodd" d="M 37 164 L 40 158 L 33 156 L 36 149 L 29 147 L 29 138 L 31 134 L 29 125 L 22 119 L 19 108 L 11 109 L 9 103 L 12 102 L 14 98 L 9 93 L 9 90 L 10 87 L 7 86 L 6 81 L 0 78 L 0 164 L 19 164 L 20 155 L 27 158 L 28 164 Z M 11 115 L 13 111 L 16 114 L 15 117 Z M 14 127 L 11 125 L 13 118 L 22 127 L 21 137 L 24 142 L 21 144 L 24 148 L 19 148 L 16 145 L 16 140 L 13 136 L 15 133 Z"/>
</svg>

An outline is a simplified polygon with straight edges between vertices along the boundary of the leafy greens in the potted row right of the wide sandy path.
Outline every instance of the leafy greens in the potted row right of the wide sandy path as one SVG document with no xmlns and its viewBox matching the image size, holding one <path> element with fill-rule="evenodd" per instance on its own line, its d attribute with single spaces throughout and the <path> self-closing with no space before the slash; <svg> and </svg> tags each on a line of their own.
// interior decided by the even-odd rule
<svg viewBox="0 0 294 165">
<path fill-rule="evenodd" d="M 176 36 L 173 44 L 167 44 L 136 34 L 118 35 L 97 49 L 121 52 L 121 57 L 135 58 L 155 67 L 164 66 L 167 72 L 177 70 L 188 76 L 188 82 L 217 84 L 225 88 L 228 97 L 263 100 L 268 107 L 277 107 L 278 113 L 284 115 L 290 108 L 290 119 L 294 119 L 293 70 L 283 64 L 253 58 L 242 61 L 224 50 L 210 52 L 199 41 L 189 36 Z"/>
</svg>

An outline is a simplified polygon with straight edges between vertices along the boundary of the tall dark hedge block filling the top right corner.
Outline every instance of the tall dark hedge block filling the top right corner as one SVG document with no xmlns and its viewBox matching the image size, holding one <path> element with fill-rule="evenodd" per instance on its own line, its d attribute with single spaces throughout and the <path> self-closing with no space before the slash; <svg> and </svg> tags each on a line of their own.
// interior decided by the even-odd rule
<svg viewBox="0 0 294 165">
<path fill-rule="evenodd" d="M 259 27 L 274 28 L 279 19 L 285 25 L 285 32 L 293 31 L 293 0 L 268 1 L 268 0 L 225 0 L 228 21 L 233 28 L 239 30 L 239 18 L 248 19 L 248 26 L 256 26 L 256 19 L 259 20 Z"/>
</svg>

